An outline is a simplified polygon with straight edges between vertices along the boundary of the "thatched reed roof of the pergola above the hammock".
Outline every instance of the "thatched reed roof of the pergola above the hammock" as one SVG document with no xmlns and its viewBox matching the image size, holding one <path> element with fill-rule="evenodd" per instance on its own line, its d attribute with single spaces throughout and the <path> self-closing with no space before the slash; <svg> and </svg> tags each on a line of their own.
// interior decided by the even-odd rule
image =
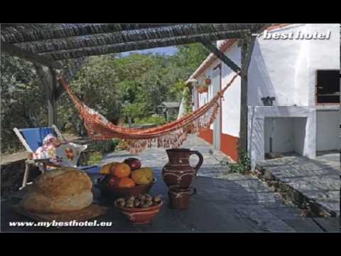
<svg viewBox="0 0 341 256">
<path fill-rule="evenodd" d="M 1 24 L 1 43 L 45 60 L 242 38 L 264 24 Z M 23 55 L 23 54 L 21 54 Z M 46 62 L 46 61 L 45 61 Z"/>
</svg>

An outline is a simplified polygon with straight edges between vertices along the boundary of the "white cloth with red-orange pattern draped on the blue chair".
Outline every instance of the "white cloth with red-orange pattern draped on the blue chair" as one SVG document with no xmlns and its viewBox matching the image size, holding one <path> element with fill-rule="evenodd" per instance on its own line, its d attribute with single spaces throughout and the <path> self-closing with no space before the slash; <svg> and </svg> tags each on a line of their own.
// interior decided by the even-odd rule
<svg viewBox="0 0 341 256">
<path fill-rule="evenodd" d="M 61 142 L 60 139 L 48 134 L 43 145 L 33 153 L 33 159 L 50 159 L 52 164 L 65 167 L 77 167 L 80 153 L 87 148 L 72 142 Z"/>
</svg>

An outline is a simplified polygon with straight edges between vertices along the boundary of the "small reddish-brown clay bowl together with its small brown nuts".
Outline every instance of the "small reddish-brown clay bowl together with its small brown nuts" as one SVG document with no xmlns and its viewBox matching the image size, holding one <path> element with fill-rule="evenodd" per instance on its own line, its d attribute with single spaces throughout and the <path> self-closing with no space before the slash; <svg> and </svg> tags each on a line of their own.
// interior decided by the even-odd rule
<svg viewBox="0 0 341 256">
<path fill-rule="evenodd" d="M 162 204 L 160 196 L 151 196 L 148 193 L 117 198 L 114 201 L 114 206 L 134 224 L 150 223 L 158 215 Z"/>
</svg>

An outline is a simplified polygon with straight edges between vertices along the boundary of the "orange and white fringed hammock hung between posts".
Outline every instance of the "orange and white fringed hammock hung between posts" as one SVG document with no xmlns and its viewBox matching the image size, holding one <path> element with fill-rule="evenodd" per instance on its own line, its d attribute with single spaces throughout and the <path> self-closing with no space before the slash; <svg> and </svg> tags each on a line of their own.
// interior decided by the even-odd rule
<svg viewBox="0 0 341 256">
<path fill-rule="evenodd" d="M 125 128 L 109 122 L 102 114 L 87 107 L 72 91 L 70 85 L 60 76 L 58 80 L 70 95 L 72 102 L 80 112 L 80 118 L 83 119 L 87 133 L 91 139 L 107 140 L 113 138 L 123 139 L 126 142 L 127 150 L 131 154 L 141 153 L 146 147 L 151 147 L 152 142 L 157 142 L 158 147 L 177 148 L 187 139 L 188 134 L 208 129 L 215 121 L 217 111 L 220 107 L 220 99 L 224 95 L 224 91 L 232 85 L 234 79 L 239 73 L 227 83 L 227 85 L 217 95 L 207 102 L 205 105 L 192 113 L 186 114 L 184 117 L 163 124 L 158 127 L 148 129 Z"/>
</svg>

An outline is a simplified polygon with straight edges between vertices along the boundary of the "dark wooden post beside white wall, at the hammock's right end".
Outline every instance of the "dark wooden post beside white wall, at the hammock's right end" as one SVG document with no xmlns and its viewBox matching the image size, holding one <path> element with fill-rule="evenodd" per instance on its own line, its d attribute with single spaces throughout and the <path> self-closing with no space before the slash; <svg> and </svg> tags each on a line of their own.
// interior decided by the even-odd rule
<svg viewBox="0 0 341 256">
<path fill-rule="evenodd" d="M 245 36 L 240 44 L 242 46 L 242 72 L 241 72 L 241 101 L 240 101 L 240 128 L 239 128 L 239 152 L 247 151 L 247 120 L 248 120 L 248 70 L 251 61 L 252 50 L 256 38 L 251 35 Z"/>
</svg>

